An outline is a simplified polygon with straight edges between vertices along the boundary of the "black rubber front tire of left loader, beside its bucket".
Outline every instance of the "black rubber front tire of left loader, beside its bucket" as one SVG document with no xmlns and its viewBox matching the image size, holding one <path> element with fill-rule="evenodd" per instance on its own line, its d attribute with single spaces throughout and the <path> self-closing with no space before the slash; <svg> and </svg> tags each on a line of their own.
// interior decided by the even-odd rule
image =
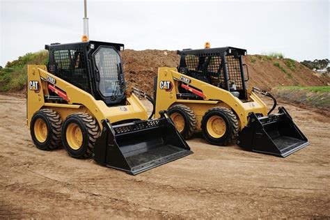
<svg viewBox="0 0 330 220">
<path fill-rule="evenodd" d="M 66 131 L 70 124 L 76 124 L 79 126 L 83 141 L 79 149 L 72 149 L 66 137 Z M 88 113 L 73 113 L 72 115 L 65 118 L 62 127 L 62 143 L 65 150 L 71 157 L 74 158 L 88 158 L 93 154 L 93 148 L 95 146 L 95 141 L 100 135 L 100 128 L 97 121 L 90 116 Z"/>
</svg>

